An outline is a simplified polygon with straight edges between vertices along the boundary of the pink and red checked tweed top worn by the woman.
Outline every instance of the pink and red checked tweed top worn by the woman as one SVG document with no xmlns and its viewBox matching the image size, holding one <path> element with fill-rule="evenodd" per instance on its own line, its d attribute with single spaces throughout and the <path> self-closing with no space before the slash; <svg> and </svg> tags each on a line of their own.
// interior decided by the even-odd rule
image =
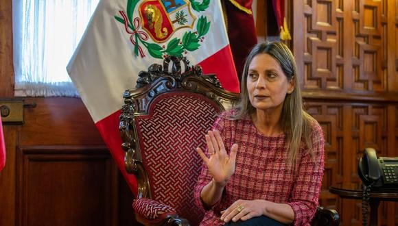
<svg viewBox="0 0 398 226">
<path fill-rule="evenodd" d="M 264 136 L 249 117 L 231 120 L 229 115 L 231 112 L 222 113 L 213 129 L 220 131 L 227 149 L 234 143 L 239 145 L 235 173 L 224 188 L 220 201 L 206 211 L 200 225 L 224 225 L 220 221 L 220 211 L 238 199 L 287 203 L 294 210 L 293 225 L 309 225 L 318 206 L 323 177 L 325 140 L 320 125 L 312 124 L 314 158 L 301 142 L 300 161 L 292 170 L 286 164 L 285 135 Z M 203 164 L 194 190 L 199 208 L 204 209 L 200 192 L 211 179 L 206 164 Z"/>
</svg>

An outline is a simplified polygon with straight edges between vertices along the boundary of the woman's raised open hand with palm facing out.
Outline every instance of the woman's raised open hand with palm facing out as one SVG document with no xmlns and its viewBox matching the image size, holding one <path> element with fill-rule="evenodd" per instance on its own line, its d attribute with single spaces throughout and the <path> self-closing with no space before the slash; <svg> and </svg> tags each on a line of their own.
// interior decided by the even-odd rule
<svg viewBox="0 0 398 226">
<path fill-rule="evenodd" d="M 207 158 L 199 147 L 196 151 L 198 151 L 202 160 L 207 164 L 209 173 L 213 176 L 215 183 L 225 186 L 229 178 L 235 173 L 237 144 L 232 145 L 231 153 L 228 155 L 218 130 L 208 131 L 205 138 L 209 150 L 209 158 Z"/>
</svg>

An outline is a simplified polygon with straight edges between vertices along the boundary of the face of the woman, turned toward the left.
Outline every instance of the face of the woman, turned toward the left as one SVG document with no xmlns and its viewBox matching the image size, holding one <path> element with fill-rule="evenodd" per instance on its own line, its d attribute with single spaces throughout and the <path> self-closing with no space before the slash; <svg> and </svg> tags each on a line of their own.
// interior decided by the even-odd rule
<svg viewBox="0 0 398 226">
<path fill-rule="evenodd" d="M 257 110 L 282 109 L 286 94 L 294 88 L 293 79 L 283 73 L 277 60 L 267 53 L 256 55 L 249 64 L 247 90 Z"/>
</svg>

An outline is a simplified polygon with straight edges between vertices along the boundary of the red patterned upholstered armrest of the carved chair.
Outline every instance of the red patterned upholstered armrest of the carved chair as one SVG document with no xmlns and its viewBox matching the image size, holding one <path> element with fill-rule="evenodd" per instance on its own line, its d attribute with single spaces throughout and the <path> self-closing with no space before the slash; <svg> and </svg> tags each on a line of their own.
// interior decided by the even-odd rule
<svg viewBox="0 0 398 226">
<path fill-rule="evenodd" d="M 134 199 L 132 208 L 137 216 L 137 220 L 144 225 L 189 225 L 185 218 L 177 215 L 174 208 L 153 199 Z"/>
</svg>

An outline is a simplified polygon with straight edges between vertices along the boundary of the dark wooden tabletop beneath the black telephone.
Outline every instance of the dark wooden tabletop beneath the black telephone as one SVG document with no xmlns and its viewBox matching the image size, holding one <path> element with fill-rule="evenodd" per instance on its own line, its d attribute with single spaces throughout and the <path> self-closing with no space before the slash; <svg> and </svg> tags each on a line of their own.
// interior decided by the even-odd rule
<svg viewBox="0 0 398 226">
<path fill-rule="evenodd" d="M 336 184 L 329 188 L 333 194 L 338 194 L 342 198 L 362 199 L 362 184 Z M 398 201 L 397 190 L 372 190 L 369 198 L 380 201 Z"/>
</svg>

